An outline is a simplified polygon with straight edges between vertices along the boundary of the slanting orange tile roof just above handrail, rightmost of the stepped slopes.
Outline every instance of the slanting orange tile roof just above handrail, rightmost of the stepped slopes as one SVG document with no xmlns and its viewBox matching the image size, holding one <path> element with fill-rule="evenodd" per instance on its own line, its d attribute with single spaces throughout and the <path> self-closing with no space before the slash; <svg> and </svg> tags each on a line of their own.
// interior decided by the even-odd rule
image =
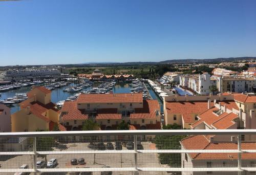
<svg viewBox="0 0 256 175">
<path fill-rule="evenodd" d="M 228 127 L 235 124 L 233 120 L 236 118 L 238 118 L 237 114 L 229 113 L 228 115 L 224 116 L 220 120 L 214 122 L 212 125 L 218 129 L 227 129 Z"/>
</svg>

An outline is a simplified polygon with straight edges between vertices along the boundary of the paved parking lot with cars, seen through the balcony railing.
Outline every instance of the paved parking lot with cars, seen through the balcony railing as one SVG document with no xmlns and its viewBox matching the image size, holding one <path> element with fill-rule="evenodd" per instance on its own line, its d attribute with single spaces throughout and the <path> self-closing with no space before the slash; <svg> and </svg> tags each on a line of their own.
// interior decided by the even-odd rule
<svg viewBox="0 0 256 175">
<path fill-rule="evenodd" d="M 141 142 L 143 149 L 155 149 L 154 144 L 151 142 Z M 127 150 L 126 147 L 122 147 L 123 150 Z M 92 150 L 89 148 L 89 143 L 68 143 L 62 144 L 58 148 L 54 148 L 54 151 L 78 151 L 78 150 Z M 108 151 L 108 149 L 106 149 Z M 32 155 L 16 156 L 13 158 L 1 159 L 0 163 L 2 165 L 1 169 L 4 168 L 19 168 L 23 164 L 28 164 L 29 168 L 32 168 L 33 159 Z M 38 157 L 39 160 L 57 159 L 57 166 L 54 168 L 76 168 L 76 167 L 90 167 L 90 168 L 100 168 L 103 166 L 109 166 L 112 168 L 125 168 L 134 167 L 134 154 L 131 153 L 104 153 L 104 154 L 51 154 L 47 155 L 46 158 Z M 86 162 L 84 165 L 71 165 L 70 161 L 72 159 L 83 158 Z M 164 167 L 158 160 L 158 155 L 156 153 L 146 153 L 138 154 L 137 159 L 138 167 Z M 1 173 L 1 174 L 13 174 L 13 173 Z M 40 173 L 40 174 L 54 174 L 54 173 Z M 65 172 L 55 173 L 55 174 L 66 174 Z M 100 172 L 93 172 L 93 174 L 100 174 Z M 133 172 L 113 172 L 113 174 L 133 174 Z M 145 174 L 142 172 L 140 174 Z M 163 174 L 162 172 L 146 172 L 146 174 Z"/>
</svg>

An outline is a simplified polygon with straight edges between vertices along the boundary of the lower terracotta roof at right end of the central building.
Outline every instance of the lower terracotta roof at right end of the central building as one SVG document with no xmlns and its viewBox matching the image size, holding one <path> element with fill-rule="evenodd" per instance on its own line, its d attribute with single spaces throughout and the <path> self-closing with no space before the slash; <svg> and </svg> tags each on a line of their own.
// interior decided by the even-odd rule
<svg viewBox="0 0 256 175">
<path fill-rule="evenodd" d="M 135 108 L 130 119 L 156 118 L 156 111 L 160 111 L 157 100 L 143 100 L 143 108 Z"/>
</svg>

